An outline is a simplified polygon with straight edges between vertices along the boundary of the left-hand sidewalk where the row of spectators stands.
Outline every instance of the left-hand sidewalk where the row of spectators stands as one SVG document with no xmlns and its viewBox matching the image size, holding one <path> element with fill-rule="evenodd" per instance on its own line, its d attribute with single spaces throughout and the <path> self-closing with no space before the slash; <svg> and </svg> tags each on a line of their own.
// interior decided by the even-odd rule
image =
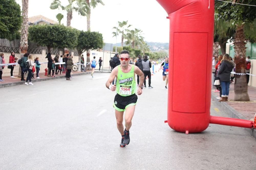
<svg viewBox="0 0 256 170">
<path fill-rule="evenodd" d="M 71 71 L 71 76 L 79 76 L 79 75 L 86 75 L 86 74 L 91 74 L 91 70 L 88 70 L 86 72 L 80 72 L 80 71 Z M 26 76 L 25 75 L 25 80 L 26 80 Z M 65 74 L 57 74 L 54 75 L 55 77 L 47 77 L 45 76 L 44 73 L 39 73 L 39 77 L 40 79 L 36 78 L 36 74 L 34 73 L 34 80 L 31 80 L 32 82 L 38 82 L 38 81 L 46 81 L 46 80 L 53 80 L 53 79 L 60 79 L 60 78 L 65 78 Z M 25 81 L 20 81 L 20 78 L 18 78 L 17 76 L 15 76 L 15 78 L 10 78 L 10 76 L 5 76 L 2 77 L 2 79 L 4 81 L 0 82 L 0 88 L 3 87 L 10 87 L 10 86 L 17 86 L 20 84 L 24 84 Z"/>
</svg>

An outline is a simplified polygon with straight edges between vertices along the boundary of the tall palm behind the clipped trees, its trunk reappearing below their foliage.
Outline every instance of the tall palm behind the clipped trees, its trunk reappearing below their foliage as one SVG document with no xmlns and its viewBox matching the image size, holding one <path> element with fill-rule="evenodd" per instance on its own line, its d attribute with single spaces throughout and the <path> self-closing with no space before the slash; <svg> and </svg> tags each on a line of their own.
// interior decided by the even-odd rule
<svg viewBox="0 0 256 170">
<path fill-rule="evenodd" d="M 87 17 L 87 31 L 91 31 L 91 7 L 95 8 L 98 4 L 105 5 L 101 0 L 86 0 L 86 17 Z M 90 62 L 90 50 L 86 51 L 86 62 Z M 90 65 L 87 65 L 87 69 L 90 69 Z"/>
</svg>

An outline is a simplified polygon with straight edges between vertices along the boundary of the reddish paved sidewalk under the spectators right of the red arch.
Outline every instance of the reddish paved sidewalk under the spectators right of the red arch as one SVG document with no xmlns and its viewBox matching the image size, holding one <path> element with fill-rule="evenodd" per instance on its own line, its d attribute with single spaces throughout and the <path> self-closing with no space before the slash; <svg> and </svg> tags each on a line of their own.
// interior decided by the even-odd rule
<svg viewBox="0 0 256 170">
<path fill-rule="evenodd" d="M 230 84 L 227 102 L 219 102 L 218 99 L 216 99 L 219 93 L 214 93 L 214 90 L 216 90 L 216 88 L 212 88 L 211 91 L 212 102 L 217 103 L 230 117 L 253 120 L 256 113 L 256 88 L 248 86 L 248 95 L 250 97 L 250 101 L 248 102 L 234 101 L 234 83 Z M 256 130 L 244 129 L 256 139 Z"/>
</svg>

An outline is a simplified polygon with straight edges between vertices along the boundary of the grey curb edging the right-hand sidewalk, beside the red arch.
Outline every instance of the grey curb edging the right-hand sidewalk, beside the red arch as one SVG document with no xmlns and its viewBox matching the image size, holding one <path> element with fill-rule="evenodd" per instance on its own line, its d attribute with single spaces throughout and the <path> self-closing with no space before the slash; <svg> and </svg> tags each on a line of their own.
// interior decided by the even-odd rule
<svg viewBox="0 0 256 170">
<path fill-rule="evenodd" d="M 228 103 L 226 102 L 219 102 L 218 99 L 216 99 L 216 96 L 214 95 L 214 92 L 211 92 L 211 100 L 215 102 L 218 106 L 220 106 L 223 111 L 225 111 L 229 117 L 231 118 L 238 118 L 238 119 L 246 119 L 241 113 L 236 111 L 233 107 L 231 107 Z M 247 120 L 247 119 L 246 119 Z M 247 131 L 251 137 L 256 139 L 256 130 L 249 129 L 249 128 L 243 128 L 245 131 Z"/>
</svg>

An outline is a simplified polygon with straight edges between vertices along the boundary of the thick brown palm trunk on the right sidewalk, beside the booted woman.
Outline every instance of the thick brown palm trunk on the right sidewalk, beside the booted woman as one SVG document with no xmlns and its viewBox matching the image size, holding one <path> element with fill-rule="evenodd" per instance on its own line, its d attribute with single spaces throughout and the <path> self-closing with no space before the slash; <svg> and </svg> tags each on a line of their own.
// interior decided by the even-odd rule
<svg viewBox="0 0 256 170">
<path fill-rule="evenodd" d="M 243 28 L 244 25 L 237 26 L 234 39 L 236 73 L 246 73 L 246 39 Z M 246 75 L 235 75 L 234 92 L 234 101 L 250 101 Z"/>
</svg>

